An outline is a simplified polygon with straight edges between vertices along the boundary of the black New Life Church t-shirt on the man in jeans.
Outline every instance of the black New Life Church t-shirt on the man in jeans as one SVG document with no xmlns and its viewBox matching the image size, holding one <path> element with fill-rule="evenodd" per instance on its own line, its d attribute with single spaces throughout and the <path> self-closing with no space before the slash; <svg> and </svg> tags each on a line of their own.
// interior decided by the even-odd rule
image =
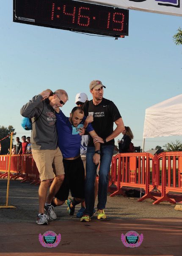
<svg viewBox="0 0 182 256">
<path fill-rule="evenodd" d="M 91 123 L 95 132 L 102 139 L 107 138 L 113 132 L 113 122 L 121 117 L 116 105 L 105 98 L 98 105 L 94 105 L 93 100 L 85 103 L 83 106 L 85 116 L 93 115 L 94 121 Z M 114 145 L 114 139 L 107 142 L 106 145 Z M 93 147 L 93 139 L 90 137 L 88 146 Z"/>
</svg>

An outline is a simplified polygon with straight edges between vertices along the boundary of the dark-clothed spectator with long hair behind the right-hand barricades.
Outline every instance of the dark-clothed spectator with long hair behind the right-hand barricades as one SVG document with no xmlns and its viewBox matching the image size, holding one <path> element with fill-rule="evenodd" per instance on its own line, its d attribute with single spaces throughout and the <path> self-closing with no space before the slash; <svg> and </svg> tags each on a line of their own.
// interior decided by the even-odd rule
<svg viewBox="0 0 182 256">
<path fill-rule="evenodd" d="M 119 153 L 129 152 L 130 142 L 133 139 L 133 134 L 129 126 L 124 126 L 125 130 L 122 132 L 123 137 L 118 140 Z"/>
</svg>

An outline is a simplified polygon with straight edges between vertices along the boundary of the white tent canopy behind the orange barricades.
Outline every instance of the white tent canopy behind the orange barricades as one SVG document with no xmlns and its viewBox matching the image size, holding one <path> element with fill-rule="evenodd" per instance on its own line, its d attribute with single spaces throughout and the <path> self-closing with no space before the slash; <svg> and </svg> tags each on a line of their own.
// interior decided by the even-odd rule
<svg viewBox="0 0 182 256">
<path fill-rule="evenodd" d="M 182 94 L 145 111 L 143 139 L 172 135 L 182 135 Z"/>
</svg>

